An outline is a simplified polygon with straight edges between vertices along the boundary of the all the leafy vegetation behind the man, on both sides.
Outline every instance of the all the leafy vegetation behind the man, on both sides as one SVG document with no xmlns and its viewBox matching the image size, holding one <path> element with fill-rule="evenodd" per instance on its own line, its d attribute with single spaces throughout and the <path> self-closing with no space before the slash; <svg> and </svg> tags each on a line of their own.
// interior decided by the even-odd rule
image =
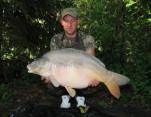
<svg viewBox="0 0 151 117">
<path fill-rule="evenodd" d="M 49 50 L 62 31 L 58 18 L 65 7 L 77 7 L 81 30 L 92 34 L 97 57 L 108 69 L 127 75 L 131 90 L 121 105 L 151 107 L 151 2 L 149 0 L 1 0 L 0 106 L 15 93 L 9 85 L 32 85 L 26 65 Z M 35 80 L 34 80 L 35 82 Z M 105 101 L 112 106 L 111 101 Z M 104 103 L 100 103 L 105 105 Z"/>
</svg>

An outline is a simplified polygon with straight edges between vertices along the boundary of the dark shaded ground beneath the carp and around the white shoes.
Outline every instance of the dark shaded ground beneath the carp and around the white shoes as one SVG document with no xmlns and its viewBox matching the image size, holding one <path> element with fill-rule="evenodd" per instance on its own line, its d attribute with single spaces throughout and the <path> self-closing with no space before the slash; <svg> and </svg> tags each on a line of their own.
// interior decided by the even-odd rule
<svg viewBox="0 0 151 117">
<path fill-rule="evenodd" d="M 43 82 L 21 83 L 20 85 L 12 83 L 9 87 L 14 95 L 9 106 L 1 107 L 4 117 L 141 117 L 144 114 L 145 117 L 150 116 L 148 111 L 132 107 L 125 108 L 123 105 L 114 106 L 113 103 L 118 102 L 118 100 L 100 87 L 98 89 L 93 88 L 93 90 L 90 88 L 91 91 L 85 90 L 86 103 L 90 106 L 85 114 L 76 108 L 74 100 L 72 100 L 71 109 L 60 109 L 62 92 Z"/>
</svg>

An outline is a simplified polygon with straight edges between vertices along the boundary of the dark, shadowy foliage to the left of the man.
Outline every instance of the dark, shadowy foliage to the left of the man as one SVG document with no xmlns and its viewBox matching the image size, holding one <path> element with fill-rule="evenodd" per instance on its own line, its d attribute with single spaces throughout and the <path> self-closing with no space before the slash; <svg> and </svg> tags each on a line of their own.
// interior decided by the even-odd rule
<svg viewBox="0 0 151 117">
<path fill-rule="evenodd" d="M 49 50 L 50 38 L 60 29 L 56 17 L 60 9 L 69 4 L 70 0 L 0 2 L 2 14 L 0 76 L 5 81 L 20 77 L 30 59 Z"/>
</svg>

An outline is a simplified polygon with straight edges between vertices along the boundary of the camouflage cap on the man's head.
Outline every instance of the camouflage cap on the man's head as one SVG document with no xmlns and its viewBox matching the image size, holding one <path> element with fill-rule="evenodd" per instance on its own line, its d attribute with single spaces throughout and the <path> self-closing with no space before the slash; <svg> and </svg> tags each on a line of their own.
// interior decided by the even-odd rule
<svg viewBox="0 0 151 117">
<path fill-rule="evenodd" d="M 73 16 L 73 17 L 77 18 L 78 17 L 77 9 L 76 8 L 63 9 L 63 11 L 61 12 L 61 18 L 63 18 L 66 15 L 70 15 L 70 16 Z"/>
</svg>

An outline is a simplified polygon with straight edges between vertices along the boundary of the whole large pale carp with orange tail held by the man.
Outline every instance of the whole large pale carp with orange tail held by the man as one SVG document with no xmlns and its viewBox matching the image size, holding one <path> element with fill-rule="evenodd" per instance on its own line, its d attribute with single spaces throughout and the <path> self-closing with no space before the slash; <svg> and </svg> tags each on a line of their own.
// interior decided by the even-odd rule
<svg viewBox="0 0 151 117">
<path fill-rule="evenodd" d="M 86 88 L 97 80 L 119 98 L 119 86 L 129 82 L 126 76 L 107 70 L 96 57 L 72 48 L 50 51 L 28 64 L 27 68 L 29 73 L 47 77 L 56 87 L 64 86 L 72 97 L 76 95 L 74 88 Z"/>
</svg>

